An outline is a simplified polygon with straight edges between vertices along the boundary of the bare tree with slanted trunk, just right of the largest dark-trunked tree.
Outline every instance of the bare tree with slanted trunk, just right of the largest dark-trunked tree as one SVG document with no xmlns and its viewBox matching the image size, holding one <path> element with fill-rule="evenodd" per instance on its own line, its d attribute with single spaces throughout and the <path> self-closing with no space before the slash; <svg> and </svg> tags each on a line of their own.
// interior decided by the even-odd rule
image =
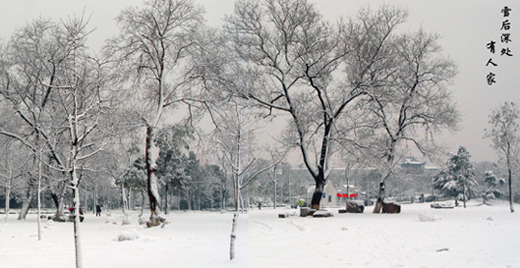
<svg viewBox="0 0 520 268">
<path fill-rule="evenodd" d="M 369 150 L 383 167 L 374 213 L 381 210 L 385 183 L 402 161 L 398 152 L 403 151 L 404 145 L 411 144 L 424 155 L 432 156 L 439 150 L 435 134 L 443 128 L 457 128 L 459 113 L 448 90 L 456 67 L 440 55 L 438 38 L 423 30 L 391 35 L 389 42 L 381 46 L 381 60 L 366 74 L 372 87 L 367 90 L 369 97 L 362 109 L 373 116 L 376 128 L 375 142 L 369 145 Z M 360 62 L 369 61 L 365 57 L 357 58 Z"/>
</svg>

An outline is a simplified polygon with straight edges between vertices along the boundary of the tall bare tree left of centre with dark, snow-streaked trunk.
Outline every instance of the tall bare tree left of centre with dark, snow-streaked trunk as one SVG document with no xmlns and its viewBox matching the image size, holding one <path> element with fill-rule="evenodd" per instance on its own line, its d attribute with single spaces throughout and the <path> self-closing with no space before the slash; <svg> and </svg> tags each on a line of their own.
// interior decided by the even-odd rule
<svg viewBox="0 0 520 268">
<path fill-rule="evenodd" d="M 157 215 L 160 197 L 155 131 L 164 109 L 181 99 L 181 89 L 186 83 L 179 75 L 182 60 L 196 44 L 194 35 L 202 21 L 202 9 L 192 0 L 152 0 L 145 1 L 142 8 L 125 9 L 117 21 L 120 34 L 111 40 L 107 52 L 122 71 L 121 82 L 131 82 L 133 90 L 129 99 L 133 97 L 142 104 L 136 108 L 146 127 L 150 225 L 156 226 L 160 223 Z"/>
</svg>

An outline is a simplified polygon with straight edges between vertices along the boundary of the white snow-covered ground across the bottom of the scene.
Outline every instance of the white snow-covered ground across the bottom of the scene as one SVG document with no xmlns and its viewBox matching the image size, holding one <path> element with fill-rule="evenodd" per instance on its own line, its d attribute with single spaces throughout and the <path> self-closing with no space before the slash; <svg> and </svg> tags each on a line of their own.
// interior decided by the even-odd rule
<svg viewBox="0 0 520 268">
<path fill-rule="evenodd" d="M 174 212 L 164 228 L 122 225 L 122 214 L 87 214 L 81 225 L 85 267 L 520 267 L 520 212 L 506 203 L 434 210 L 403 205 L 401 214 L 299 217 L 295 209 L 241 214 L 237 258 L 229 261 L 232 213 Z M 278 218 L 279 213 L 294 214 Z M 0 267 L 74 267 L 72 223 L 36 215 L 0 222 Z M 118 242 L 120 235 L 134 240 Z M 153 264 L 153 265 L 151 265 Z"/>
</svg>

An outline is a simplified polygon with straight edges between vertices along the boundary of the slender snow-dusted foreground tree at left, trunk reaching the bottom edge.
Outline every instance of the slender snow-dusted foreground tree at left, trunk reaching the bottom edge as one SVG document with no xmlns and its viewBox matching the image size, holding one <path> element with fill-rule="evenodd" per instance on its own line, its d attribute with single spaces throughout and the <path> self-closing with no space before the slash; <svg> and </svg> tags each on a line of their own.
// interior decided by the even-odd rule
<svg viewBox="0 0 520 268">
<path fill-rule="evenodd" d="M 88 160 L 103 150 L 108 143 L 114 127 L 108 113 L 114 107 L 114 95 L 106 86 L 107 66 L 86 53 L 85 42 L 89 34 L 88 20 L 85 17 L 71 17 L 63 23 L 65 47 L 69 55 L 61 70 L 56 89 L 56 106 L 60 107 L 57 116 L 64 122 L 53 127 L 63 128 L 62 141 L 66 149 L 62 152 L 66 159 L 57 168 L 70 174 L 68 186 L 73 193 L 74 204 L 74 241 L 76 267 L 82 267 L 80 243 L 80 205 L 79 185 L 82 172 L 88 170 Z"/>
</svg>

